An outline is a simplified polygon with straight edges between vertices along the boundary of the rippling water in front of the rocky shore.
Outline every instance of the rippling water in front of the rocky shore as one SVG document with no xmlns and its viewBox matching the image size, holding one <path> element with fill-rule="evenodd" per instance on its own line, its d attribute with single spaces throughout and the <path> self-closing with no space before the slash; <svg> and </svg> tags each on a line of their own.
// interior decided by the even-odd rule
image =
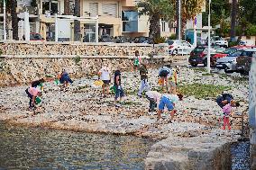
<svg viewBox="0 0 256 170">
<path fill-rule="evenodd" d="M 143 169 L 152 144 L 131 136 L 25 129 L 0 122 L 0 169 Z"/>
</svg>

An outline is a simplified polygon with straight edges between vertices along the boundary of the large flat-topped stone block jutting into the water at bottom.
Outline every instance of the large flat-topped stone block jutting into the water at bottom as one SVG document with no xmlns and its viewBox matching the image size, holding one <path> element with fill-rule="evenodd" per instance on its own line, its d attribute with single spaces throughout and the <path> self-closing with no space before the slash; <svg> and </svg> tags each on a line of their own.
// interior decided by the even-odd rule
<svg viewBox="0 0 256 170">
<path fill-rule="evenodd" d="M 231 145 L 213 136 L 169 137 L 151 147 L 145 159 L 147 170 L 231 169 Z"/>
</svg>

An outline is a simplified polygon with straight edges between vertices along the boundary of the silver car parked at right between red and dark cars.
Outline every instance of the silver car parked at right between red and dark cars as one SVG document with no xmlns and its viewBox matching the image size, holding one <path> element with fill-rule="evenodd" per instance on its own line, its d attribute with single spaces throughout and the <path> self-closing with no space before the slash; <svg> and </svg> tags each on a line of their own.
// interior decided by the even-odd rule
<svg viewBox="0 0 256 170">
<path fill-rule="evenodd" d="M 216 68 L 224 69 L 225 73 L 236 71 L 236 58 L 244 55 L 244 50 L 239 49 L 225 58 L 218 58 L 216 60 Z"/>
</svg>

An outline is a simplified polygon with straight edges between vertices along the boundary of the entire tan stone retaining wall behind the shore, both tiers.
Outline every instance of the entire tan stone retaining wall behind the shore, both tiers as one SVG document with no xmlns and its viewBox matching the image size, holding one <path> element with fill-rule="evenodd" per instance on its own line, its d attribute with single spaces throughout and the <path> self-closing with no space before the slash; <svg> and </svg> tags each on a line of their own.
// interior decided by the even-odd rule
<svg viewBox="0 0 256 170">
<path fill-rule="evenodd" d="M 0 45 L 0 86 L 29 84 L 45 76 L 57 76 L 65 68 L 72 78 L 92 76 L 106 63 L 112 71 L 117 67 L 133 69 L 134 51 L 139 50 L 150 67 L 158 67 L 169 58 L 167 46 L 147 44 L 65 44 L 5 43 Z M 157 56 L 149 57 L 149 54 Z"/>
</svg>

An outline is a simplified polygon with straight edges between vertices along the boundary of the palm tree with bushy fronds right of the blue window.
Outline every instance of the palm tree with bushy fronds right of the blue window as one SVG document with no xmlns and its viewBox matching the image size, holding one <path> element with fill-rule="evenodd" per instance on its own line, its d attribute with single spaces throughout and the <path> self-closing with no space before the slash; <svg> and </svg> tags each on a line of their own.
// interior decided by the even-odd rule
<svg viewBox="0 0 256 170">
<path fill-rule="evenodd" d="M 139 15 L 148 15 L 150 22 L 150 37 L 160 38 L 160 19 L 173 20 L 174 8 L 169 0 L 146 0 L 137 4 Z"/>
</svg>

